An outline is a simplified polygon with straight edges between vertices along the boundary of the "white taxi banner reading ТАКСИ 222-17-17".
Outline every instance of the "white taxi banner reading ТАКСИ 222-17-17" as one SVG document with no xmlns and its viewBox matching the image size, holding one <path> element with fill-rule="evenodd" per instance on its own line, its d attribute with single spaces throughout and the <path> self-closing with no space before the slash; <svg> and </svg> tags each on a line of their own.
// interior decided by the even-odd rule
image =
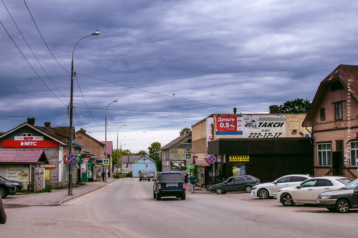
<svg viewBox="0 0 358 238">
<path fill-rule="evenodd" d="M 286 116 L 243 115 L 242 138 L 286 137 Z"/>
</svg>

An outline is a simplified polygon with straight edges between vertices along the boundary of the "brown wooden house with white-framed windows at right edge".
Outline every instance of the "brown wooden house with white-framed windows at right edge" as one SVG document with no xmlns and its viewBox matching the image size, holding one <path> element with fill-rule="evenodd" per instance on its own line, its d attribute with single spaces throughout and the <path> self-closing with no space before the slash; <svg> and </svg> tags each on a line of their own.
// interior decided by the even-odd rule
<svg viewBox="0 0 358 238">
<path fill-rule="evenodd" d="M 303 126 L 312 127 L 314 175 L 357 178 L 358 65 L 339 65 L 321 81 Z"/>
</svg>

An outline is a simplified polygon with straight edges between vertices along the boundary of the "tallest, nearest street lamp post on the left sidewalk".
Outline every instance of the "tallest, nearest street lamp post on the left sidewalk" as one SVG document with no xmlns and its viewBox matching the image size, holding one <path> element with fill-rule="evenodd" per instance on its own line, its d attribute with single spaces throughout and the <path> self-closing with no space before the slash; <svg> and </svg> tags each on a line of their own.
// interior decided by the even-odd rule
<svg viewBox="0 0 358 238">
<path fill-rule="evenodd" d="M 97 29 L 97 31 L 95 33 L 92 33 L 91 35 L 87 35 L 87 37 L 90 37 L 92 35 L 100 35 L 101 33 L 99 32 L 99 28 Z M 84 39 L 86 37 L 81 38 L 78 42 L 80 42 L 82 39 Z M 76 45 L 78 44 L 78 42 L 76 43 Z M 74 52 L 74 48 L 76 48 L 76 45 L 74 45 L 73 50 L 72 50 L 72 63 L 71 63 L 71 99 L 69 102 L 69 154 L 72 154 L 72 143 L 73 143 L 73 129 L 72 129 L 72 121 L 73 121 L 73 52 Z M 69 165 L 69 171 L 68 171 L 68 194 L 67 195 L 72 195 L 72 168 L 73 165 L 70 164 Z"/>
</svg>

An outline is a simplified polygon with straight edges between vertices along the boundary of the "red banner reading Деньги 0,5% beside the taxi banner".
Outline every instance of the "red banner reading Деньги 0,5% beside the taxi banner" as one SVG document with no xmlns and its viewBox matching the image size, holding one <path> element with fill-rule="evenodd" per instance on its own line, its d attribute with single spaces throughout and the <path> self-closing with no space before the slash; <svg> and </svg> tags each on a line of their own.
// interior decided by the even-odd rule
<svg viewBox="0 0 358 238">
<path fill-rule="evenodd" d="M 238 115 L 216 116 L 216 135 L 242 135 L 242 117 Z"/>
</svg>

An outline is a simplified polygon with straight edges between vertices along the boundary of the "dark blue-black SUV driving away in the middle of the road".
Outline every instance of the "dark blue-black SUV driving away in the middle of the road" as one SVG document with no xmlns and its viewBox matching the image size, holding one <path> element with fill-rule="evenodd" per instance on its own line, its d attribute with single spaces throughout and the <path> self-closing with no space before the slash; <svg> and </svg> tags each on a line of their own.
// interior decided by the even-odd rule
<svg viewBox="0 0 358 238">
<path fill-rule="evenodd" d="M 160 172 L 153 184 L 153 198 L 175 196 L 185 200 L 185 183 L 180 172 Z"/>
</svg>

